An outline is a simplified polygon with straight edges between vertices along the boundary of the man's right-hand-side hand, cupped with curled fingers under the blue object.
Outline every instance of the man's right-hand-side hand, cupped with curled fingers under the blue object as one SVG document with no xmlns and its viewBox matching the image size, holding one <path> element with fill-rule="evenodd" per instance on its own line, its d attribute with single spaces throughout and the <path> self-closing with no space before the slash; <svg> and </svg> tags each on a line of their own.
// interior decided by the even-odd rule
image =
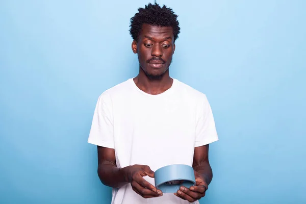
<svg viewBox="0 0 306 204">
<path fill-rule="evenodd" d="M 194 202 L 205 196 L 205 192 L 208 189 L 208 185 L 205 180 L 196 171 L 195 174 L 195 186 L 191 186 L 189 189 L 185 186 L 181 186 L 174 195 L 180 197 L 189 202 Z"/>
</svg>

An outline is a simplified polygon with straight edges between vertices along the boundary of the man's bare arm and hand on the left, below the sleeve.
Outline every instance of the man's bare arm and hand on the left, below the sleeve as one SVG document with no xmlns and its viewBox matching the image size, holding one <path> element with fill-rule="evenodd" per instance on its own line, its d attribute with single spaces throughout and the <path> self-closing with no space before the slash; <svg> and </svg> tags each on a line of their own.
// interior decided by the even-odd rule
<svg viewBox="0 0 306 204">
<path fill-rule="evenodd" d="M 144 198 L 161 196 L 162 192 L 157 190 L 143 179 L 143 176 L 154 177 L 154 171 L 145 165 L 116 166 L 115 150 L 97 146 L 98 148 L 98 176 L 100 181 L 113 188 L 120 188 L 131 183 L 133 190 Z"/>
</svg>

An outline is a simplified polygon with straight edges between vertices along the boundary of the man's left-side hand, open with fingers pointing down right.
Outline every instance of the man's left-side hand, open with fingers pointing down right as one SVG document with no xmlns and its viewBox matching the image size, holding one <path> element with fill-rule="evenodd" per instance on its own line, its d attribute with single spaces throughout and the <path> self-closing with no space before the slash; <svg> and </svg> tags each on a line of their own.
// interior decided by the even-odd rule
<svg viewBox="0 0 306 204">
<path fill-rule="evenodd" d="M 133 190 L 144 198 L 162 196 L 162 191 L 151 185 L 143 176 L 154 178 L 154 171 L 145 165 L 133 165 L 125 167 L 127 180 L 131 183 Z"/>
</svg>

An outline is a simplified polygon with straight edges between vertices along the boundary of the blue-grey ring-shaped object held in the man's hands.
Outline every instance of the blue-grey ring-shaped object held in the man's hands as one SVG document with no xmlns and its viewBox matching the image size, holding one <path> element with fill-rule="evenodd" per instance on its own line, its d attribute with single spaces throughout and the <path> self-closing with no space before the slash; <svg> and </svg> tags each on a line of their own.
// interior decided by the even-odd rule
<svg viewBox="0 0 306 204">
<path fill-rule="evenodd" d="M 194 170 L 185 164 L 164 166 L 155 171 L 155 187 L 163 193 L 176 193 L 181 186 L 195 185 Z"/>
</svg>

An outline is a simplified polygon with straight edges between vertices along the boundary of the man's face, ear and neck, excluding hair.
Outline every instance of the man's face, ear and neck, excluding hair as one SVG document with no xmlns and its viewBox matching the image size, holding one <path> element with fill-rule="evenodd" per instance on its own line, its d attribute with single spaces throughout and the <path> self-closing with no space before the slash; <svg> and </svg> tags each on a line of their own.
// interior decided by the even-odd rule
<svg viewBox="0 0 306 204">
<path fill-rule="evenodd" d="M 155 95 L 172 86 L 173 79 L 169 76 L 175 50 L 172 27 L 143 24 L 138 40 L 132 42 L 132 50 L 139 60 L 139 73 L 134 78 L 139 89 Z"/>
</svg>

